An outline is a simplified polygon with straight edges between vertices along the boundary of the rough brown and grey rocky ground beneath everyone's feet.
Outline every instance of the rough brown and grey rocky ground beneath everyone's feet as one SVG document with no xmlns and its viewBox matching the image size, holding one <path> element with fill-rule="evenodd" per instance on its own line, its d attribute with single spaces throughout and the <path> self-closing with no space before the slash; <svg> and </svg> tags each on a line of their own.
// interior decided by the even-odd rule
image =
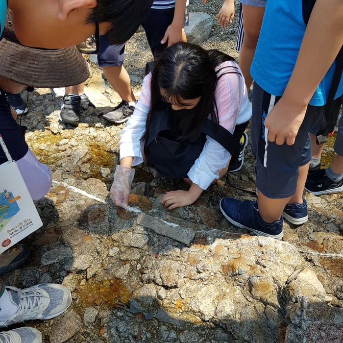
<svg viewBox="0 0 343 343">
<path fill-rule="evenodd" d="M 237 15 L 225 30 L 216 19 L 220 7 L 192 0 L 190 11 L 213 19 L 206 49 L 237 57 Z M 152 59 L 144 32 L 128 42 L 125 58 L 139 96 Z M 48 195 L 36 201 L 49 225 L 24 240 L 31 258 L 1 282 L 61 283 L 73 296 L 65 314 L 25 325 L 39 329 L 45 343 L 341 343 L 343 194 L 305 192 L 307 223 L 286 221 L 283 242 L 252 237 L 229 224 L 218 206 L 223 196 L 255 199 L 244 192 L 255 190 L 247 147 L 244 168 L 191 206 L 165 210 L 161 196 L 187 186 L 142 165 L 130 207 L 115 207 L 108 190 L 123 125 L 101 117 L 119 98 L 95 62 L 90 58 L 86 92 L 98 108 L 83 108 L 77 128 L 58 122 L 61 98 L 49 89 L 31 93 L 23 116 L 28 145 L 53 172 Z M 332 158 L 329 146 L 324 158 Z"/>
</svg>

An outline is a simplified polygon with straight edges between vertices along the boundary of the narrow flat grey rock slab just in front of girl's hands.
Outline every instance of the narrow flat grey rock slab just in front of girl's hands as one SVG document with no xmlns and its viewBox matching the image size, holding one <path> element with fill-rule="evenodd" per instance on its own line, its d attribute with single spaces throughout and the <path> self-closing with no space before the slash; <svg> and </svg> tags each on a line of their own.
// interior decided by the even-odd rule
<svg viewBox="0 0 343 343">
<path fill-rule="evenodd" d="M 138 215 L 136 223 L 153 230 L 155 233 L 172 238 L 173 240 L 185 245 L 191 245 L 195 233 L 191 228 L 163 221 L 157 217 L 151 217 L 145 213 Z"/>
</svg>

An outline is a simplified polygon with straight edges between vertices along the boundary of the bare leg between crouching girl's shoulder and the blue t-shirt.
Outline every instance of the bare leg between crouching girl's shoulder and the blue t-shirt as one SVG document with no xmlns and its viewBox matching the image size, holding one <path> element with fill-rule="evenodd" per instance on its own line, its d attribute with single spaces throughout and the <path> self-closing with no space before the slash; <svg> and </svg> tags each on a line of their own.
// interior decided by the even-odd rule
<svg viewBox="0 0 343 343">
<path fill-rule="evenodd" d="M 264 7 L 243 5 L 244 37 L 240 53 L 239 66 L 242 70 L 246 88 L 248 90 L 252 84 L 252 77 L 250 75 L 251 62 L 255 54 L 264 13 Z"/>
</svg>

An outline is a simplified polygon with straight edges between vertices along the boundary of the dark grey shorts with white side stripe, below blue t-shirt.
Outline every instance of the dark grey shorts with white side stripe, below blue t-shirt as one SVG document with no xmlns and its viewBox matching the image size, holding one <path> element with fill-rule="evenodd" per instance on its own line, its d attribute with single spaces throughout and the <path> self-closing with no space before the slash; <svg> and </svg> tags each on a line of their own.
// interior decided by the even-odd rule
<svg viewBox="0 0 343 343">
<path fill-rule="evenodd" d="M 324 111 L 324 106 L 309 105 L 295 143 L 278 146 L 269 142 L 264 122 L 281 97 L 265 92 L 256 82 L 252 93 L 251 147 L 256 157 L 256 185 L 264 196 L 283 199 L 296 190 L 298 168 L 311 159 L 309 132 Z"/>
</svg>

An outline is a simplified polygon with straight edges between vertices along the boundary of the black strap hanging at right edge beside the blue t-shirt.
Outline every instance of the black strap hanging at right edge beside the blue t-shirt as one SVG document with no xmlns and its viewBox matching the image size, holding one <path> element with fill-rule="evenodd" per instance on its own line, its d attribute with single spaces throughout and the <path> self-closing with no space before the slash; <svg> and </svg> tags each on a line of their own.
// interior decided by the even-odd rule
<svg viewBox="0 0 343 343">
<path fill-rule="evenodd" d="M 321 121 L 320 129 L 316 134 L 317 144 L 327 141 L 326 136 L 334 130 L 339 116 L 340 102 L 335 101 L 335 95 L 340 85 L 343 72 L 343 47 L 336 57 L 336 69 L 332 78 L 331 87 L 326 100 L 325 112 Z"/>
</svg>

